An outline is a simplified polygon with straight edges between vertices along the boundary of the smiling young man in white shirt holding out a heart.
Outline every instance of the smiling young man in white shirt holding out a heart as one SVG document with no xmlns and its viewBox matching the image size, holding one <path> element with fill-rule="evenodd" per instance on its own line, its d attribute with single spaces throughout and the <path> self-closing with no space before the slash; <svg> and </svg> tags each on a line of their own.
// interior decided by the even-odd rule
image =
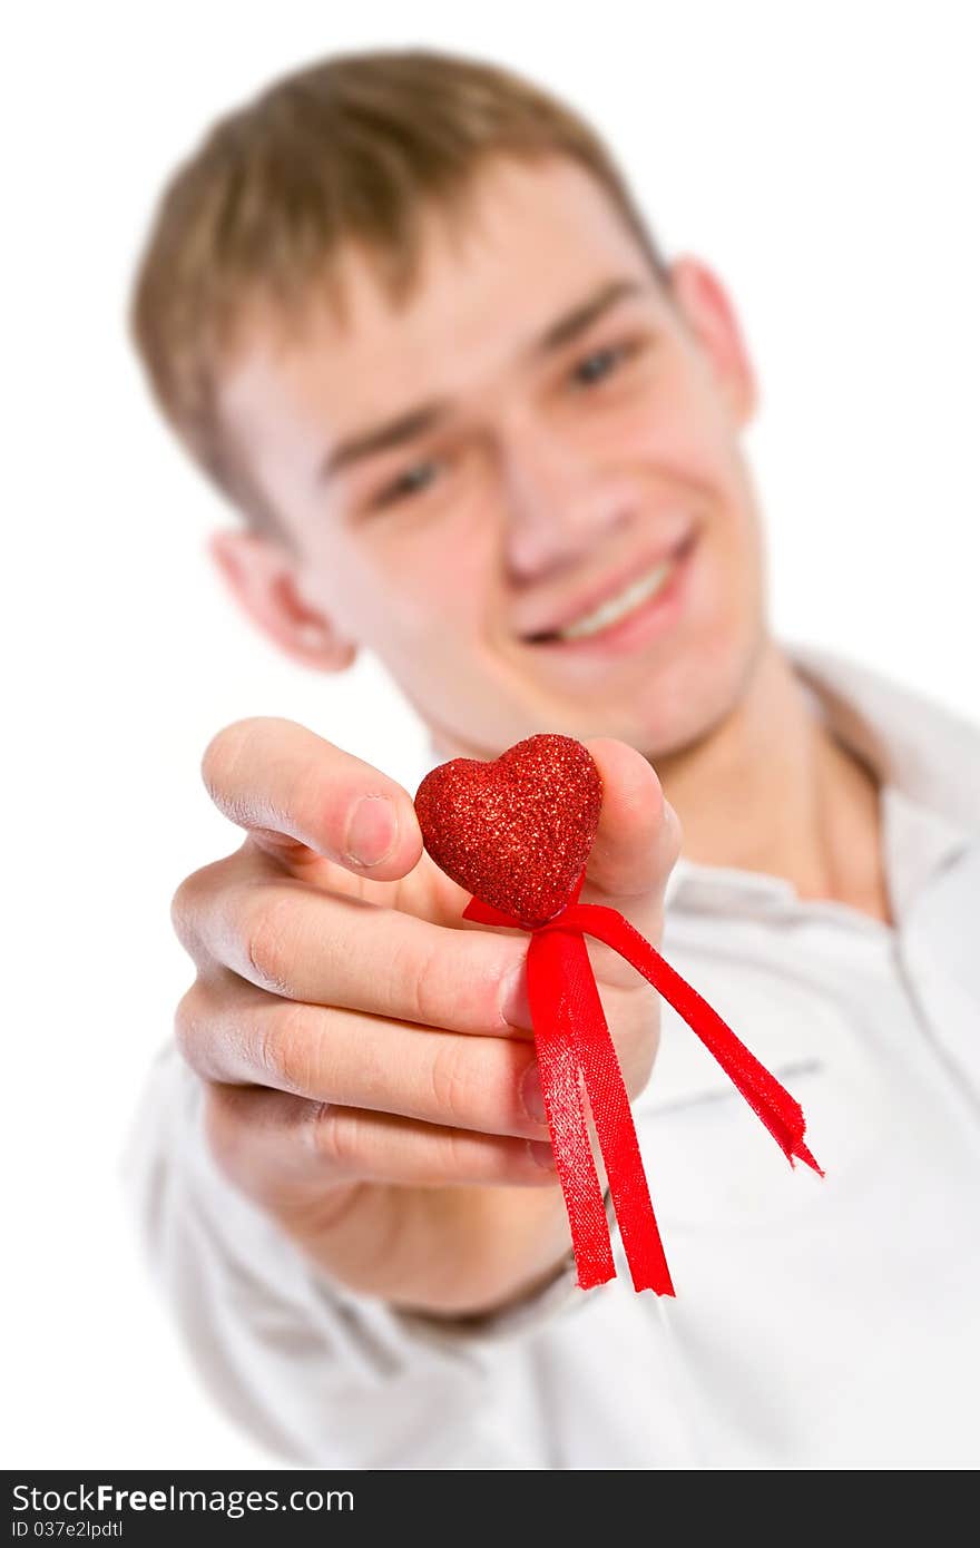
<svg viewBox="0 0 980 1548">
<path fill-rule="evenodd" d="M 720 282 L 568 108 L 395 53 L 218 124 L 135 333 L 254 622 L 372 649 L 432 762 L 587 738 L 588 896 L 666 918 L 827 1169 L 595 949 L 678 1296 L 577 1289 L 526 938 L 460 927 L 412 791 L 237 723 L 204 779 L 246 837 L 176 893 L 197 981 L 133 1149 L 212 1390 L 311 1464 L 974 1464 L 980 735 L 773 638 Z"/>
</svg>

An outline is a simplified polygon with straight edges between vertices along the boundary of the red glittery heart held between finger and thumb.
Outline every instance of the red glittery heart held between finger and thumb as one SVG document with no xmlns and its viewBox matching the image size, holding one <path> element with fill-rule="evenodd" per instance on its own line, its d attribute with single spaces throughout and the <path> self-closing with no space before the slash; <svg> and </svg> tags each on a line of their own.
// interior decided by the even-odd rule
<svg viewBox="0 0 980 1548">
<path fill-rule="evenodd" d="M 415 796 L 435 864 L 523 926 L 545 924 L 570 901 L 601 807 L 602 776 L 588 748 L 553 734 L 488 763 L 440 763 Z"/>
</svg>

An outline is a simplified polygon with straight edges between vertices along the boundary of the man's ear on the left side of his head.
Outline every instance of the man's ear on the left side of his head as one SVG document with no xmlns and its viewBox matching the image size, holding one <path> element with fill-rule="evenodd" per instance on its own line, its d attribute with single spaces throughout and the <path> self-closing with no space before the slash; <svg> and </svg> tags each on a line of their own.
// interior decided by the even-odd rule
<svg viewBox="0 0 980 1548">
<path fill-rule="evenodd" d="M 320 672 L 342 672 L 351 664 L 358 647 L 305 601 L 286 548 L 238 528 L 212 533 L 207 548 L 240 607 L 280 650 Z"/>
</svg>

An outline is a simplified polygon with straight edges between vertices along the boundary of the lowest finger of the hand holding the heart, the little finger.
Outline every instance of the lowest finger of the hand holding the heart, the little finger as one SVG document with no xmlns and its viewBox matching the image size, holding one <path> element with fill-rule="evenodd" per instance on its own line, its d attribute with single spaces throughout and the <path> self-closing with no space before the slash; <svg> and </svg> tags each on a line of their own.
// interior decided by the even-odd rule
<svg viewBox="0 0 980 1548">
<path fill-rule="evenodd" d="M 207 1087 L 206 1132 L 226 1175 L 263 1201 L 311 1183 L 557 1187 L 547 1141 L 443 1128 L 254 1087 Z"/>
</svg>

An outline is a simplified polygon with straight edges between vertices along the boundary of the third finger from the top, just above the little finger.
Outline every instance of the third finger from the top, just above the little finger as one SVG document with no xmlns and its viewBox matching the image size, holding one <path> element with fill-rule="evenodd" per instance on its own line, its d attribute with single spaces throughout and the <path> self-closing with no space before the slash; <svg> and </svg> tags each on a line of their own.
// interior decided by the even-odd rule
<svg viewBox="0 0 980 1548">
<path fill-rule="evenodd" d="M 197 983 L 175 1029 L 206 1081 L 480 1133 L 542 1139 L 548 1132 L 531 1039 L 466 1037 L 293 1005 L 240 980 L 220 991 Z"/>
</svg>

